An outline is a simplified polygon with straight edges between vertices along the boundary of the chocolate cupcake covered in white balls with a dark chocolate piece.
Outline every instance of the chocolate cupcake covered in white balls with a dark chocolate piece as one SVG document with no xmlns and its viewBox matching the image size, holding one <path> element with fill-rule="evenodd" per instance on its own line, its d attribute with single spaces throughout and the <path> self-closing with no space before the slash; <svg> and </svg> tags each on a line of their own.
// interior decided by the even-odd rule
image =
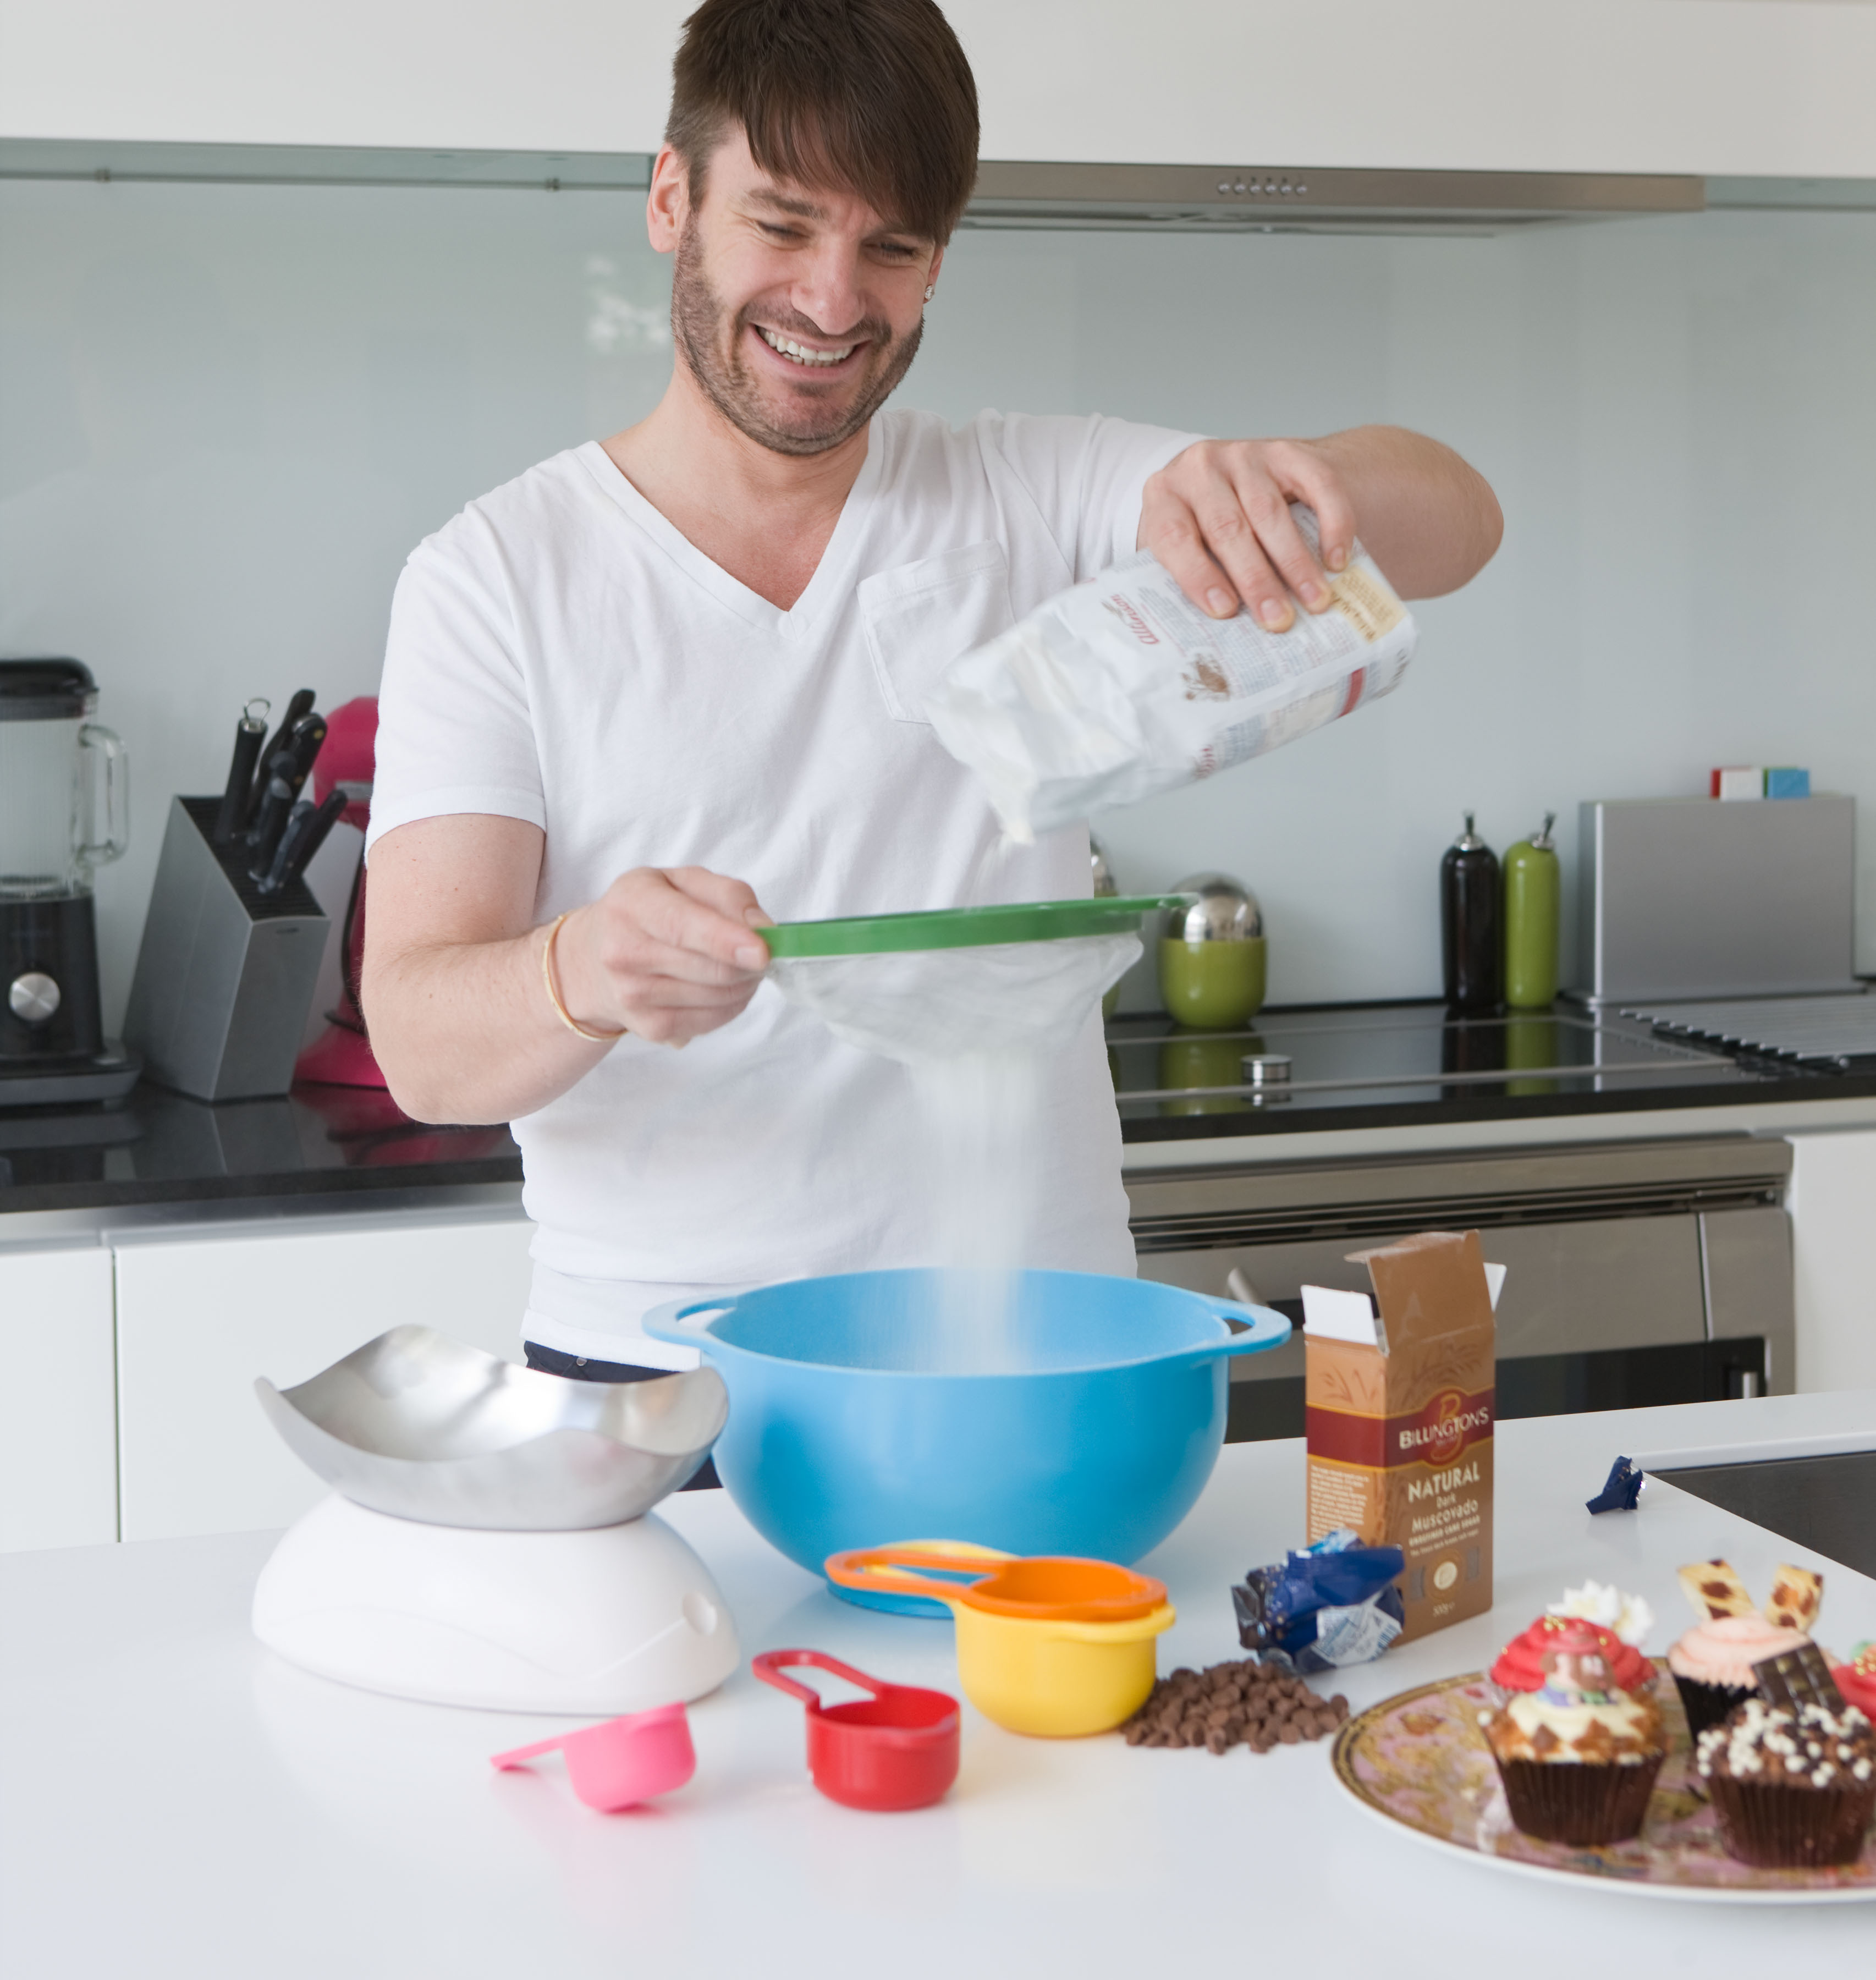
<svg viewBox="0 0 1876 1980">
<path fill-rule="evenodd" d="M 1854 1705 L 1747 1699 L 1700 1734 L 1726 1853 L 1759 1869 L 1823 1869 L 1862 1855 L 1876 1814 L 1876 1727 Z"/>
</svg>

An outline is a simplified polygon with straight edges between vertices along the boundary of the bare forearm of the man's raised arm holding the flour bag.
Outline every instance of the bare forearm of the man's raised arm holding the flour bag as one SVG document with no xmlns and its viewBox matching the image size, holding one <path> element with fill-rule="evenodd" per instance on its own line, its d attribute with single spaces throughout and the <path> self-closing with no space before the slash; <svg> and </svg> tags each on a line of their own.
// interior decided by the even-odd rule
<svg viewBox="0 0 1876 1980">
<path fill-rule="evenodd" d="M 1314 442 L 1354 499 L 1361 544 L 1403 598 L 1456 592 L 1504 535 L 1498 497 L 1451 447 L 1403 426 L 1352 426 Z"/>
</svg>

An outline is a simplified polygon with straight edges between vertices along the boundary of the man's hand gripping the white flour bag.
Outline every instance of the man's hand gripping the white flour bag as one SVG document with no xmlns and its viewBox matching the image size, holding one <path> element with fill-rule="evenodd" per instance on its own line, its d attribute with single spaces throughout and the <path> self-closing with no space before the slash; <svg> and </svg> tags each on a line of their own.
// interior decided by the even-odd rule
<svg viewBox="0 0 1876 1980">
<path fill-rule="evenodd" d="M 1290 517 L 1316 511 L 1322 560 Z M 1152 550 L 1195 606 L 1231 618 L 1243 602 L 1272 632 L 1330 602 L 1324 568 L 1342 570 L 1356 507 L 1336 465 L 1310 440 L 1201 440 L 1146 483 L 1140 548 Z"/>
</svg>

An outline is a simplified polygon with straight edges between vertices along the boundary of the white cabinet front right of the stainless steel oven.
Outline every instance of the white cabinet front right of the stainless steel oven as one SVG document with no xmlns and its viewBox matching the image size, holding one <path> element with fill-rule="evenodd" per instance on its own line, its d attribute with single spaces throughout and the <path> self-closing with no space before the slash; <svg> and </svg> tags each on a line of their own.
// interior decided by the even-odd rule
<svg viewBox="0 0 1876 1980">
<path fill-rule="evenodd" d="M 1876 1388 L 1876 1129 L 1793 1135 L 1797 1386 Z"/>
</svg>

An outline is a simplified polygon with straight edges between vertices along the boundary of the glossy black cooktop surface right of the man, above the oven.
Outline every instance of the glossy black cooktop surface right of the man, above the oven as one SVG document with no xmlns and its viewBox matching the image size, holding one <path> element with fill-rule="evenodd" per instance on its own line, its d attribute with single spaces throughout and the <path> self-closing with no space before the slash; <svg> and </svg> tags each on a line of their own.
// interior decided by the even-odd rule
<svg viewBox="0 0 1876 1980">
<path fill-rule="evenodd" d="M 1128 1140 L 1876 1093 L 1876 1077 L 1745 1059 L 1571 1004 L 1496 1018 L 1298 1006 L 1235 1032 L 1116 1018 L 1108 1071 Z"/>
</svg>

